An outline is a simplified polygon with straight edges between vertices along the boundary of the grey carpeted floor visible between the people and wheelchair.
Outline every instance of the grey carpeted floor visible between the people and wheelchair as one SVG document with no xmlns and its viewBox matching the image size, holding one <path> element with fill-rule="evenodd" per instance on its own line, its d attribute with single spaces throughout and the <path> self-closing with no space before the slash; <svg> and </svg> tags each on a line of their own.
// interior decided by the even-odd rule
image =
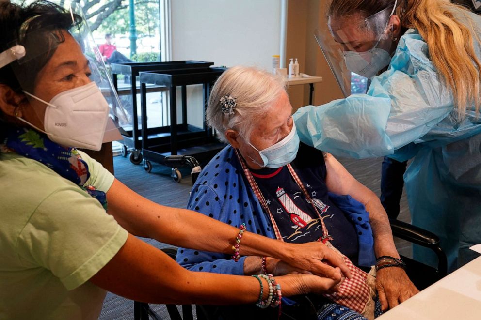
<svg viewBox="0 0 481 320">
<path fill-rule="evenodd" d="M 379 196 L 382 158 L 365 160 L 339 159 L 339 161 L 357 180 L 368 186 Z M 114 169 L 117 179 L 145 198 L 166 206 L 186 207 L 189 191 L 192 186 L 189 176 L 190 168 L 179 168 L 184 177 L 180 183 L 173 182 L 170 177 L 170 168 L 155 163 L 153 163 L 152 172 L 147 173 L 142 166 L 131 164 L 128 158 L 116 156 L 114 157 Z M 405 194 L 403 194 L 401 198 L 401 214 L 399 219 L 410 222 L 410 213 Z M 157 248 L 169 246 L 151 239 L 143 240 Z M 395 242 L 401 254 L 411 256 L 411 245 L 409 243 L 399 239 L 395 239 Z M 165 306 L 151 305 L 151 307 L 162 318 L 169 319 Z M 99 319 L 132 320 L 133 301 L 108 293 Z"/>
</svg>

